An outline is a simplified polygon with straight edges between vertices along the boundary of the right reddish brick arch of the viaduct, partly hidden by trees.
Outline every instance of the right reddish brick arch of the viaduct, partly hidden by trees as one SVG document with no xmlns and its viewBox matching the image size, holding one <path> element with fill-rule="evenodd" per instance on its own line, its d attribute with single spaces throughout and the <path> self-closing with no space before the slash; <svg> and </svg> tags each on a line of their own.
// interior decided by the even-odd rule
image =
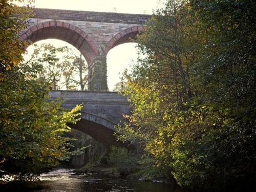
<svg viewBox="0 0 256 192">
<path fill-rule="evenodd" d="M 131 39 L 136 39 L 136 35 L 144 30 L 145 28 L 143 26 L 135 26 L 117 33 L 112 39 L 110 39 L 108 44 L 106 44 L 106 47 L 104 48 L 105 55 L 108 54 L 112 48 L 120 44 L 124 44 L 125 42 L 131 42 Z"/>
</svg>

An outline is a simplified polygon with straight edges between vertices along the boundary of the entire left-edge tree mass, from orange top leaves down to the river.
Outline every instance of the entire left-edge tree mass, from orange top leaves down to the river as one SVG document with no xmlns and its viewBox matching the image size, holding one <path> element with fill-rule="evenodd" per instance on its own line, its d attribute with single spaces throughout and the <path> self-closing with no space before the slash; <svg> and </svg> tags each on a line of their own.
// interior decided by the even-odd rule
<svg viewBox="0 0 256 192">
<path fill-rule="evenodd" d="M 8 1 L 0 4 L 0 167 L 20 175 L 38 174 L 71 156 L 69 138 L 62 134 L 70 130 L 67 122 L 79 120 L 80 110 L 65 111 L 60 102 L 49 100 L 50 84 L 38 77 L 42 63 L 23 62 L 28 42 L 18 33 L 30 12 Z"/>
</svg>

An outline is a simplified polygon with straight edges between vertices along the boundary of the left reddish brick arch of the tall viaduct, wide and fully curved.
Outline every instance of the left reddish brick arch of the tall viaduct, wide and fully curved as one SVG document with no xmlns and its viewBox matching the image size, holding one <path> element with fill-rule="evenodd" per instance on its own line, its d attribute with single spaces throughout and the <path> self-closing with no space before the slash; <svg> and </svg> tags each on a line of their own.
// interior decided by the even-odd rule
<svg viewBox="0 0 256 192">
<path fill-rule="evenodd" d="M 98 54 L 94 41 L 91 40 L 87 33 L 65 22 L 50 21 L 39 23 L 25 31 L 20 38 L 31 40 L 32 42 L 49 38 L 66 41 L 82 53 L 87 63 L 91 63 L 95 55 Z"/>
</svg>

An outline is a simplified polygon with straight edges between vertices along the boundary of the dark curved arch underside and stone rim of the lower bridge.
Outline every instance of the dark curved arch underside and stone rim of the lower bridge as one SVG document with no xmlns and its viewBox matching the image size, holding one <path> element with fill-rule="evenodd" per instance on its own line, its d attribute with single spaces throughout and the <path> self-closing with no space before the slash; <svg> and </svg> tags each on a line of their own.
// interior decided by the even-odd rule
<svg viewBox="0 0 256 192">
<path fill-rule="evenodd" d="M 80 121 L 76 124 L 68 125 L 72 129 L 81 131 L 95 138 L 106 146 L 106 148 L 110 148 L 111 146 L 127 147 L 124 143 L 117 141 L 117 138 L 114 136 L 114 124 L 108 120 L 82 113 Z"/>
</svg>

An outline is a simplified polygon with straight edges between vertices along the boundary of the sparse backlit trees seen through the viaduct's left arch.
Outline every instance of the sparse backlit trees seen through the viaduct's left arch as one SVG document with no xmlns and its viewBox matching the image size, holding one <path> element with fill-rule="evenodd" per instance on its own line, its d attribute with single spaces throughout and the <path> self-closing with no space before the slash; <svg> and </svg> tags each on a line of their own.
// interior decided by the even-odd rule
<svg viewBox="0 0 256 192">
<path fill-rule="evenodd" d="M 41 44 L 35 46 L 31 55 L 32 62 L 41 62 L 45 66 L 40 76 L 44 76 L 54 90 L 65 89 L 83 91 L 87 83 L 87 66 L 78 53 L 68 47 L 56 48 L 51 44 Z"/>
</svg>

